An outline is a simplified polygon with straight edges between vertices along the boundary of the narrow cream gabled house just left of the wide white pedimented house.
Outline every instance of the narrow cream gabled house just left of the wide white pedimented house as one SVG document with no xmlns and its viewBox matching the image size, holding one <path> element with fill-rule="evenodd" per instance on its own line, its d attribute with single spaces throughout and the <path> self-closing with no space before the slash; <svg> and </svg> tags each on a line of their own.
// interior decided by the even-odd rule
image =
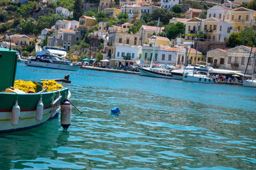
<svg viewBox="0 0 256 170">
<path fill-rule="evenodd" d="M 202 19 L 202 26 L 203 26 L 203 21 Z M 200 28 L 200 22 L 201 18 L 192 18 L 186 22 L 186 40 L 193 40 L 194 35 L 198 32 L 198 30 L 201 30 Z"/>
</svg>

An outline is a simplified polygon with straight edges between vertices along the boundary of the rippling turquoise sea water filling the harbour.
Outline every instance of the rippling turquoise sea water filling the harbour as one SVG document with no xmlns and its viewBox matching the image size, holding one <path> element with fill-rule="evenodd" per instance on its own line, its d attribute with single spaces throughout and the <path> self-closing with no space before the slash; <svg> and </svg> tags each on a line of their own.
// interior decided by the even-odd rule
<svg viewBox="0 0 256 170">
<path fill-rule="evenodd" d="M 66 74 L 83 113 L 1 134 L 0 169 L 256 169 L 256 89 L 24 64 L 16 79 Z"/>
</svg>

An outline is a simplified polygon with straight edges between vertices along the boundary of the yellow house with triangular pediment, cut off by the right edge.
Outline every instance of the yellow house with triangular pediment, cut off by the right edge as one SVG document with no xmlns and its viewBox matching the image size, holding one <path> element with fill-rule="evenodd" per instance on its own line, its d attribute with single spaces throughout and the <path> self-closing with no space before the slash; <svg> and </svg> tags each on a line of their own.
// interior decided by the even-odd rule
<svg viewBox="0 0 256 170">
<path fill-rule="evenodd" d="M 256 30 L 256 11 L 244 7 L 233 9 L 227 14 L 229 23 L 234 27 L 234 32 L 240 32 L 244 28 Z"/>
</svg>

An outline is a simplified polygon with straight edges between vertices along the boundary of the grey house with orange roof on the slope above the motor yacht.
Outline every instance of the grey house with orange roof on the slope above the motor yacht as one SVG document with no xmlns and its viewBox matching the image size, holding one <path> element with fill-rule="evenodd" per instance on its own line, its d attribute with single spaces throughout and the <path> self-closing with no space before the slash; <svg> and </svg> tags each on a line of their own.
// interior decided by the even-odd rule
<svg viewBox="0 0 256 170">
<path fill-rule="evenodd" d="M 82 39 L 80 31 L 68 30 L 60 28 L 57 37 L 48 37 L 47 46 L 62 46 L 66 50 L 70 50 L 71 45 L 76 45 Z"/>
</svg>

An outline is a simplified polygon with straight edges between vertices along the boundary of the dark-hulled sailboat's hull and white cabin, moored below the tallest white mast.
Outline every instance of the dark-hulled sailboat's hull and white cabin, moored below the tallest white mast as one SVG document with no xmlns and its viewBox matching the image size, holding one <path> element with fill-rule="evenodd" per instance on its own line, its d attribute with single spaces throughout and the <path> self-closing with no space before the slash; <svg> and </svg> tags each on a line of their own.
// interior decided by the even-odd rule
<svg viewBox="0 0 256 170">
<path fill-rule="evenodd" d="M 147 76 L 147 77 L 159 77 L 159 78 L 166 78 L 166 79 L 174 79 L 171 75 L 171 70 L 169 69 L 162 69 L 162 68 L 142 68 L 138 67 L 139 73 L 142 76 Z"/>
</svg>

